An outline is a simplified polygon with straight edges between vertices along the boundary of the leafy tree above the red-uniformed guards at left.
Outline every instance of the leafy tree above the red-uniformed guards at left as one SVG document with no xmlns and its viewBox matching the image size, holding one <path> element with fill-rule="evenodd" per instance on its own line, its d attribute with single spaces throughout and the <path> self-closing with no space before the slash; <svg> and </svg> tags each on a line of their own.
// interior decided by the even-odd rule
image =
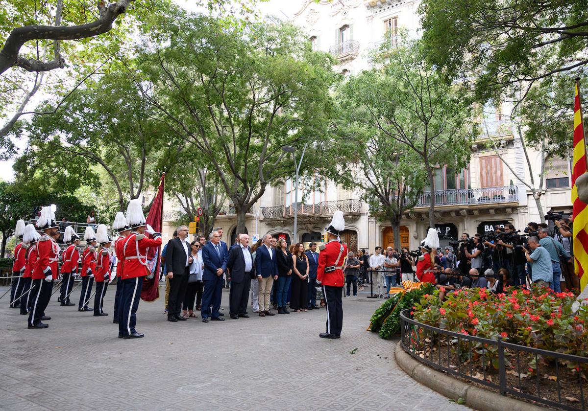
<svg viewBox="0 0 588 411">
<path fill-rule="evenodd" d="M 140 90 L 121 72 L 88 80 L 59 107 L 54 104 L 42 109 L 55 114 L 36 115 L 28 127 L 37 163 L 51 167 L 58 159 L 65 176 L 79 173 L 81 163 L 101 166 L 116 187 L 120 210 L 146 186 L 156 187 L 182 150 L 182 140 L 153 118 Z"/>
</svg>

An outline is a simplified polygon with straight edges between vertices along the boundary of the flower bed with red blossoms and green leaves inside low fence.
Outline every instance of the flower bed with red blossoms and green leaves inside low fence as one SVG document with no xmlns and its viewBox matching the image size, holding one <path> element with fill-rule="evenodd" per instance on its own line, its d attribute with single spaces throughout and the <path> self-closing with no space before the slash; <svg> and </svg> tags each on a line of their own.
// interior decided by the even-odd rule
<svg viewBox="0 0 588 411">
<path fill-rule="evenodd" d="M 507 292 L 493 295 L 486 289 L 464 290 L 443 302 L 437 291 L 423 295 L 410 316 L 440 330 L 424 326 L 406 329 L 410 351 L 428 359 L 430 365 L 438 363 L 447 372 L 493 388 L 502 378 L 506 392 L 513 395 L 566 409 L 584 409 L 587 306 L 574 314 L 576 297 L 572 293 L 553 294 L 537 288 Z M 442 331 L 457 334 L 445 335 Z M 500 348 L 503 355 L 499 355 L 497 342 L 490 343 L 498 339 L 506 342 Z M 499 373 L 501 360 L 503 370 Z"/>
</svg>

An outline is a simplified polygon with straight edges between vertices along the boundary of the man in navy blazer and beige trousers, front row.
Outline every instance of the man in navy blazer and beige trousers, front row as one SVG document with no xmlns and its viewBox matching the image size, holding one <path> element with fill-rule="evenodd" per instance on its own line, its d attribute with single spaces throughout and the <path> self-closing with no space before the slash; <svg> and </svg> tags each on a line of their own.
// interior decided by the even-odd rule
<svg viewBox="0 0 588 411">
<path fill-rule="evenodd" d="M 269 311 L 269 297 L 272 294 L 273 280 L 278 279 L 276 250 L 271 246 L 272 235 L 263 237 L 263 244 L 255 251 L 255 271 L 259 284 L 259 316 L 275 315 Z"/>
</svg>

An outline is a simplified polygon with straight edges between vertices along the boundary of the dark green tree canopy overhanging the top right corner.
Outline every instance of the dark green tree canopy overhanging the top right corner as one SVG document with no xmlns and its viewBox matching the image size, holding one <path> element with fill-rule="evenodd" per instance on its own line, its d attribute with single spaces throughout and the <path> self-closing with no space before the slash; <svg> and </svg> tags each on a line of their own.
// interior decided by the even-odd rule
<svg viewBox="0 0 588 411">
<path fill-rule="evenodd" d="M 473 79 L 479 100 L 523 99 L 534 83 L 586 73 L 588 8 L 581 0 L 423 0 L 426 55 L 449 78 Z"/>
</svg>

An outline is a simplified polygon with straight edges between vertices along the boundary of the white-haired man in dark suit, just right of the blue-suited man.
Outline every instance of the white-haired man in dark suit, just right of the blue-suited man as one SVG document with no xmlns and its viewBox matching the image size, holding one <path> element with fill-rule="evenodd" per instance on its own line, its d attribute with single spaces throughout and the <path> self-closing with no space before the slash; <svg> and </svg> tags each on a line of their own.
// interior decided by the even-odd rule
<svg viewBox="0 0 588 411">
<path fill-rule="evenodd" d="M 239 234 L 239 242 L 230 248 L 226 267 L 230 272 L 230 318 L 249 318 L 247 302 L 253 273 L 253 257 L 249 248 L 249 235 Z"/>
</svg>

